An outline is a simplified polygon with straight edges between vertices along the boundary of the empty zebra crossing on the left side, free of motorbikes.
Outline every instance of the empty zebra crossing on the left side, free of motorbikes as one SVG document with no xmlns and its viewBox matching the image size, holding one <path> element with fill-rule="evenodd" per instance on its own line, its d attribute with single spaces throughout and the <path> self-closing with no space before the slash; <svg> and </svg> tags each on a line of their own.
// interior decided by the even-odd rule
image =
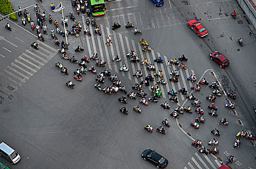
<svg viewBox="0 0 256 169">
<path fill-rule="evenodd" d="M 11 100 L 13 93 L 40 70 L 57 50 L 44 42 L 37 41 L 39 49 L 26 49 L 10 65 L 0 72 L 0 104 Z"/>
</svg>

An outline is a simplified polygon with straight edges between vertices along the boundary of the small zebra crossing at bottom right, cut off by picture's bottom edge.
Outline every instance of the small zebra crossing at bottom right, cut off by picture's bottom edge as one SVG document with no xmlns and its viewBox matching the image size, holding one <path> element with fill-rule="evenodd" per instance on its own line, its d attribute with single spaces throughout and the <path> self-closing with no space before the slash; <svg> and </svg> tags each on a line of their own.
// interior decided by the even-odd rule
<svg viewBox="0 0 256 169">
<path fill-rule="evenodd" d="M 218 159 L 215 159 L 214 162 L 211 162 L 205 154 L 195 153 L 195 156 L 192 156 L 191 161 L 187 163 L 188 167 L 185 166 L 184 169 L 218 169 L 222 165 Z"/>
</svg>

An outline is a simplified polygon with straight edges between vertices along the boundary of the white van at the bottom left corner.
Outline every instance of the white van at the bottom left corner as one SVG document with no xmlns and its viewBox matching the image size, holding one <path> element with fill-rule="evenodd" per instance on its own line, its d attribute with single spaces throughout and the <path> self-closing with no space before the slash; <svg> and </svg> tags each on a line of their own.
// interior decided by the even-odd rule
<svg viewBox="0 0 256 169">
<path fill-rule="evenodd" d="M 12 164 L 16 164 L 20 160 L 20 155 L 4 142 L 0 143 L 0 156 L 3 156 L 7 160 L 9 160 Z"/>
</svg>

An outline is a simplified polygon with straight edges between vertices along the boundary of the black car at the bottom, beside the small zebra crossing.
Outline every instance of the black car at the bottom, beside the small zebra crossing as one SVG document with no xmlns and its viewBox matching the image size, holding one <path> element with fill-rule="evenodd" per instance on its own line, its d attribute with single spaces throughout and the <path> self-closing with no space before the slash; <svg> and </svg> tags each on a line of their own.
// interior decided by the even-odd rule
<svg viewBox="0 0 256 169">
<path fill-rule="evenodd" d="M 141 154 L 141 156 L 144 160 L 150 161 L 160 169 L 164 169 L 168 164 L 168 160 L 162 155 L 156 153 L 155 150 L 147 149 Z"/>
</svg>

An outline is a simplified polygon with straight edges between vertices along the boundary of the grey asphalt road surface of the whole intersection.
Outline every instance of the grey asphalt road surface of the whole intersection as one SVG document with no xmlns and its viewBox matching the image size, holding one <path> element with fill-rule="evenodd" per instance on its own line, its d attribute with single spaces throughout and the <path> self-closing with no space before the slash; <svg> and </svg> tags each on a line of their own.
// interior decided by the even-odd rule
<svg viewBox="0 0 256 169">
<path fill-rule="evenodd" d="M 21 6 L 26 5 L 26 1 L 22 1 L 22 3 Z M 44 9 L 46 14 L 52 14 L 54 19 L 57 18 L 60 22 L 61 14 L 50 12 L 50 3 L 51 1 L 45 0 L 43 4 L 40 3 L 40 9 Z M 65 13 L 69 14 L 72 11 L 71 3 L 69 1 L 64 3 L 67 11 Z M 16 1 L 14 4 L 19 5 Z M 251 30 L 236 1 L 218 0 L 202 3 L 200 1 L 169 2 L 166 0 L 164 6 L 156 8 L 150 0 L 116 0 L 106 3 L 106 8 L 107 14 L 96 18 L 103 35 L 97 36 L 90 25 L 91 37 L 86 37 L 83 34 L 80 34 L 78 39 L 69 37 L 70 56 L 75 55 L 77 59 L 80 59 L 84 55 L 90 56 L 97 52 L 107 62 L 106 68 L 120 77 L 128 91 L 132 91 L 131 86 L 135 82 L 141 81 L 140 78 L 137 79 L 132 76 L 134 71 L 141 68 L 144 75 L 153 73 L 145 71 L 146 67 L 139 64 L 129 63 L 129 58 L 127 59 L 125 54 L 131 49 L 135 49 L 141 59 L 147 58 L 149 62 L 152 62 L 158 55 L 163 56 L 164 60 L 169 60 L 185 54 L 189 58 L 186 63 L 188 70 L 182 70 L 180 83 L 174 84 L 168 81 L 170 69 L 166 67 L 166 63 L 157 64 L 157 67 L 164 71 L 164 78 L 168 81 L 168 85 L 161 86 L 165 93 L 164 97 L 159 99 L 158 103 L 150 102 L 148 107 L 140 105 L 142 114 L 132 110 L 133 106 L 139 104 L 139 98 L 136 100 L 128 99 L 126 107 L 129 114 L 124 115 L 119 112 L 123 103 L 118 101 L 120 96 L 124 96 L 123 93 L 106 95 L 98 91 L 93 86 L 95 74 L 91 72 L 83 75 L 83 82 L 75 81 L 72 75 L 78 65 L 60 59 L 59 54 L 55 55 L 57 47 L 54 46 L 49 35 L 45 35 L 45 44 L 39 44 L 39 51 L 35 51 L 31 49 L 30 43 L 36 41 L 36 37 L 30 33 L 13 24 L 11 24 L 14 27 L 12 32 L 1 29 L 1 36 L 18 46 L 15 47 L 0 40 L 1 46 L 11 51 L 8 53 L 4 49 L 0 53 L 5 56 L 0 57 L 3 60 L 0 68 L 2 73 L 0 96 L 4 98 L 1 107 L 5 112 L 1 113 L 3 120 L 0 124 L 0 141 L 10 144 L 22 157 L 22 160 L 11 168 L 153 169 L 154 166 L 144 162 L 140 157 L 143 150 L 147 148 L 155 149 L 169 159 L 167 168 L 170 169 L 189 169 L 191 166 L 207 168 L 204 163 L 210 169 L 217 168 L 219 162 L 216 157 L 220 156 L 225 161 L 226 155 L 229 153 L 236 158 L 235 163 L 231 164 L 233 169 L 256 168 L 254 162 L 256 153 L 252 151 L 255 150 L 255 145 L 252 146 L 248 140 L 242 139 L 239 149 L 232 147 L 239 129 L 255 132 L 256 126 L 253 112 L 256 99 L 255 91 L 252 91 L 255 85 L 255 75 L 251 73 L 256 69 L 254 58 L 256 39 L 254 36 L 250 36 Z M 33 9 L 30 8 L 29 10 L 30 14 L 33 14 Z M 240 14 L 237 20 L 230 16 L 233 10 Z M 33 19 L 33 16 L 31 17 Z M 84 27 L 83 17 L 76 16 Z M 187 27 L 186 21 L 193 18 L 199 19 L 201 24 L 208 29 L 210 33 L 207 37 L 201 39 Z M 143 35 L 134 35 L 134 29 L 125 29 L 124 24 L 127 21 L 134 23 L 137 28 L 142 30 Z M 238 21 L 243 23 L 238 24 Z M 119 22 L 122 27 L 112 31 L 113 22 Z M 1 27 L 3 25 L 4 22 L 1 23 Z M 53 28 L 53 24 L 47 25 L 48 29 Z M 69 21 L 69 27 L 71 25 L 72 22 Z M 26 29 L 32 32 L 29 26 Z M 112 36 L 113 45 L 107 47 L 105 41 L 109 34 Z M 150 43 L 151 53 L 141 51 L 142 46 L 138 42 L 142 37 Z M 239 37 L 245 42 L 243 47 L 236 42 Z M 62 40 L 60 36 L 58 38 Z M 75 54 L 73 48 L 78 44 L 84 46 L 85 52 Z M 209 54 L 214 50 L 222 52 L 229 58 L 230 65 L 226 69 L 221 69 L 210 60 Z M 12 55 L 13 53 L 15 55 Z M 122 58 L 121 63 L 110 61 L 114 55 L 119 55 Z M 58 61 L 68 67 L 70 75 L 60 73 L 60 70 L 54 66 L 54 63 Z M 94 62 L 91 61 L 89 65 L 94 66 Z M 27 70 L 27 72 L 20 71 L 21 69 L 15 67 L 14 64 Z M 129 72 L 121 73 L 118 71 L 122 64 L 129 67 Z M 104 69 L 96 67 L 98 72 Z M 197 79 L 204 76 L 210 82 L 215 81 L 216 79 L 211 75 L 209 69 L 214 71 L 226 92 L 237 91 L 238 98 L 234 101 L 237 115 L 224 107 L 225 96 L 217 98 L 216 101 L 219 116 L 211 117 L 208 115 L 207 106 L 210 103 L 205 97 L 212 90 L 207 86 L 202 86 L 202 90 L 195 95 L 202 102 L 206 123 L 200 124 L 198 130 L 190 127 L 189 123 L 197 117 L 196 113 L 184 113 L 180 115 L 181 118 L 178 121 L 170 118 L 169 113 L 178 105 L 169 102 L 171 110 L 164 110 L 160 107 L 162 102 L 168 100 L 167 91 L 171 88 L 177 91 L 183 86 L 190 88 L 192 84 L 187 82 L 186 78 L 192 73 L 196 74 Z M 28 78 L 26 79 L 26 77 Z M 68 80 L 75 83 L 75 89 L 65 86 L 65 82 Z M 105 81 L 103 86 L 111 84 L 107 77 Z M 9 84 L 15 89 L 6 88 Z M 148 87 L 144 90 L 148 95 L 151 92 Z M 191 90 L 189 89 L 189 91 Z M 10 95 L 14 98 L 8 99 Z M 185 101 L 179 95 L 179 104 L 183 105 Z M 184 105 L 189 104 L 189 100 L 184 103 Z M 10 112 L 8 112 L 9 109 L 5 108 L 9 108 Z M 222 117 L 227 118 L 229 126 L 219 126 L 218 121 Z M 165 127 L 167 134 L 162 135 L 157 133 L 155 128 L 159 127 L 165 118 L 170 121 L 171 127 Z M 242 125 L 238 123 L 239 119 L 242 121 Z M 143 129 L 148 123 L 154 127 L 153 133 L 148 133 Z M 177 123 L 181 123 L 182 128 Z M 220 141 L 217 146 L 220 149 L 220 154 L 216 155 L 215 158 L 211 155 L 199 154 L 197 149 L 191 146 L 192 140 L 186 133 L 190 132 L 193 139 L 202 140 L 203 145 L 209 148 L 211 146 L 207 145 L 207 141 L 213 137 L 210 131 L 215 127 L 221 131 L 221 136 L 215 137 L 216 140 Z M 0 161 L 11 165 L 3 158 L 0 158 Z"/>
</svg>

